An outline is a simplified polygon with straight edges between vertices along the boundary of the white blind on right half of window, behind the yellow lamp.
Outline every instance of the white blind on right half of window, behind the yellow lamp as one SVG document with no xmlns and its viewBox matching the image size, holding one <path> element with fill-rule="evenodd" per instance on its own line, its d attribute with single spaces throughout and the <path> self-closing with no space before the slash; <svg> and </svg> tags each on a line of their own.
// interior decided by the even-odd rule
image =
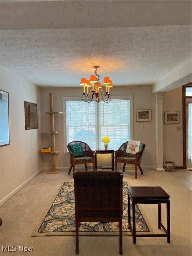
<svg viewBox="0 0 192 256">
<path fill-rule="evenodd" d="M 99 143 L 103 136 L 110 139 L 108 148 L 117 150 L 121 144 L 131 139 L 130 100 L 111 100 L 109 103 L 99 103 Z"/>
</svg>

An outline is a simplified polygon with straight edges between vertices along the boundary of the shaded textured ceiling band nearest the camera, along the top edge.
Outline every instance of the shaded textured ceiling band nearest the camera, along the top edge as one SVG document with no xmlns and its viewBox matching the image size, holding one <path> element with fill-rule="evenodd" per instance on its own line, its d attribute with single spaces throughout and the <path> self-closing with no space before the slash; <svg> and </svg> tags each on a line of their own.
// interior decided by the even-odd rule
<svg viewBox="0 0 192 256">
<path fill-rule="evenodd" d="M 2 3 L 1 29 L 67 29 L 191 24 L 191 1 Z"/>
</svg>

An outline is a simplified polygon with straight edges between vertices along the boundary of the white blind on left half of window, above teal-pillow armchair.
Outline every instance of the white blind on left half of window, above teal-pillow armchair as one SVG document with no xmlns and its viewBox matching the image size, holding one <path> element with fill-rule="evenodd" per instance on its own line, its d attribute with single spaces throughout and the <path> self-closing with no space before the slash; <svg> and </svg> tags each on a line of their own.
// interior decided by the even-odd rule
<svg viewBox="0 0 192 256">
<path fill-rule="evenodd" d="M 84 141 L 91 149 L 96 148 L 96 102 L 66 101 L 66 138 Z"/>
</svg>

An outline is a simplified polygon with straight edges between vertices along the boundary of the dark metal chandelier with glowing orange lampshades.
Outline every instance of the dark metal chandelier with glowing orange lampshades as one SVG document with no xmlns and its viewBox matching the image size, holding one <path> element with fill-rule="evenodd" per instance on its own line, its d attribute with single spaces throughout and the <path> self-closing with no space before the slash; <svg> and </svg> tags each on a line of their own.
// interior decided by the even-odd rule
<svg viewBox="0 0 192 256">
<path fill-rule="evenodd" d="M 110 87 L 113 87 L 112 81 L 108 76 L 104 77 L 103 84 L 105 85 L 105 92 L 102 89 L 101 83 L 99 82 L 100 76 L 97 74 L 97 69 L 99 66 L 94 66 L 95 73 L 90 76 L 90 80 L 87 80 L 85 77 L 81 78 L 80 85 L 83 85 L 83 95 L 81 99 L 85 102 L 91 102 L 95 100 L 99 103 L 100 100 L 104 102 L 110 102 Z M 85 91 L 87 87 L 87 92 Z M 92 89 L 89 89 L 92 87 Z"/>
</svg>

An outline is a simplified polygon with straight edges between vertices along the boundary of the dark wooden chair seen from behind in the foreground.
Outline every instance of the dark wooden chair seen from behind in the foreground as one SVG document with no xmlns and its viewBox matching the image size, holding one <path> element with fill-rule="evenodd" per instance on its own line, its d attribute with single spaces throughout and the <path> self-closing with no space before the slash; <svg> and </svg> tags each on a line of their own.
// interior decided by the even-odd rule
<svg viewBox="0 0 192 256">
<path fill-rule="evenodd" d="M 77 171 L 75 188 L 76 254 L 79 254 L 81 221 L 118 222 L 119 254 L 122 249 L 123 173 L 114 171 Z"/>
</svg>

